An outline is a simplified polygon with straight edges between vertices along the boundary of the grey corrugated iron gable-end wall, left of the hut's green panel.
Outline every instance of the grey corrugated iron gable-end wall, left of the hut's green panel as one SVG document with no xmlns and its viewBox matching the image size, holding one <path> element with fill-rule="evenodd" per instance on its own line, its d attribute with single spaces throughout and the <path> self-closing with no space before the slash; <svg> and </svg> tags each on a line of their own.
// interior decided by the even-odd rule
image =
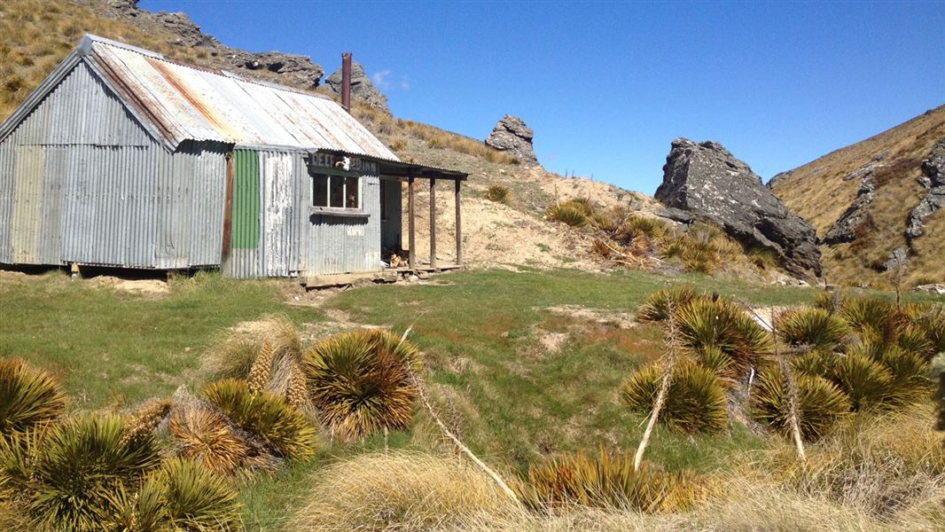
<svg viewBox="0 0 945 532">
<path fill-rule="evenodd" d="M 78 64 L 0 144 L 0 263 L 219 264 L 225 149 L 167 153 Z"/>
</svg>

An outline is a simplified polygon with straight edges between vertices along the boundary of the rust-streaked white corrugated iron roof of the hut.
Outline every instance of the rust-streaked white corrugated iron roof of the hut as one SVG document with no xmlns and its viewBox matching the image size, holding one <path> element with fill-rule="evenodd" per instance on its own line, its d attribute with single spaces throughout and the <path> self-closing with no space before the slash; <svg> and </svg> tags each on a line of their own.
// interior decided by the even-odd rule
<svg viewBox="0 0 945 532">
<path fill-rule="evenodd" d="M 330 98 L 167 60 L 91 35 L 79 48 L 172 146 L 215 141 L 329 149 L 399 161 Z"/>
</svg>

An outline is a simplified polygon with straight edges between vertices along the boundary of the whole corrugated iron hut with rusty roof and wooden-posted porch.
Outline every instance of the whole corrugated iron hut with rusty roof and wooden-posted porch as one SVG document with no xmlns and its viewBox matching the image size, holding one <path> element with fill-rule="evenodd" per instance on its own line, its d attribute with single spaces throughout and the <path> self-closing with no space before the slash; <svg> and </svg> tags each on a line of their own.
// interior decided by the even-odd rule
<svg viewBox="0 0 945 532">
<path fill-rule="evenodd" d="M 407 181 L 419 268 L 416 180 L 455 183 L 459 264 L 466 177 L 401 162 L 330 98 L 86 36 L 0 126 L 0 264 L 377 271 Z M 435 215 L 429 267 L 455 266 Z"/>
</svg>

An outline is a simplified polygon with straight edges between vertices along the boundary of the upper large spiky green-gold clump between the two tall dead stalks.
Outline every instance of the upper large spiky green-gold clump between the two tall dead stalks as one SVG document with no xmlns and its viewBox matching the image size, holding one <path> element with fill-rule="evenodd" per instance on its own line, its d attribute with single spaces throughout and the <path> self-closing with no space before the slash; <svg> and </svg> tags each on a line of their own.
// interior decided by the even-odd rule
<svg viewBox="0 0 945 532">
<path fill-rule="evenodd" d="M 689 352 L 717 349 L 731 359 L 727 375 L 739 378 L 770 352 L 771 337 L 736 304 L 693 300 L 679 309 L 679 339 Z"/>
</svg>

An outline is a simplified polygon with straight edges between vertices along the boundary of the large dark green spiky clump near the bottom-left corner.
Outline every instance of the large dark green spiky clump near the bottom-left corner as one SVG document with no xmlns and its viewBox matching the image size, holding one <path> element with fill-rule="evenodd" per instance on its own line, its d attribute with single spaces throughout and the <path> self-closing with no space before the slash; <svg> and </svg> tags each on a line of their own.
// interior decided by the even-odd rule
<svg viewBox="0 0 945 532">
<path fill-rule="evenodd" d="M 49 429 L 36 450 L 36 492 L 27 505 L 39 526 L 98 530 L 116 490 L 157 467 L 154 439 L 125 441 L 125 431 L 111 414 L 86 414 Z"/>
</svg>

